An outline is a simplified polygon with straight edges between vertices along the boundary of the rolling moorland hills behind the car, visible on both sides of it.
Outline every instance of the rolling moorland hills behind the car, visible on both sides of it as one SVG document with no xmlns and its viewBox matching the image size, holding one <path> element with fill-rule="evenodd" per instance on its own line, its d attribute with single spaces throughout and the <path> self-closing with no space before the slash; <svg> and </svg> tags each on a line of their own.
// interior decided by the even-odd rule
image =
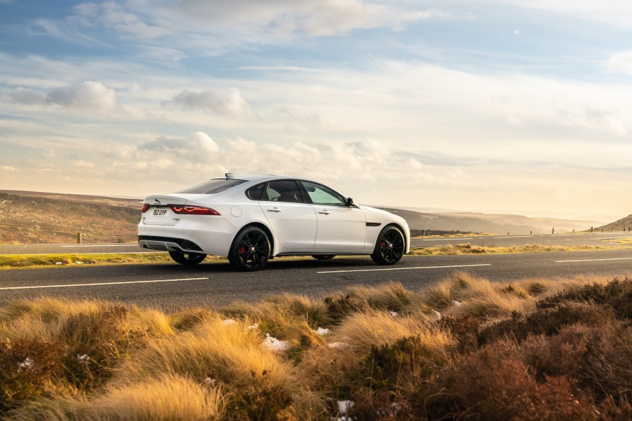
<svg viewBox="0 0 632 421">
<path fill-rule="evenodd" d="M 29 191 L 0 191 L 0 244 L 135 242 L 140 200 L 90 195 Z M 566 219 L 528 218 L 521 215 L 478 213 L 423 213 L 381 208 L 403 216 L 413 230 L 474 233 L 528 234 L 587 230 L 601 223 Z M 614 224 L 623 229 L 621 219 Z M 627 223 L 627 222 L 626 222 Z M 610 229 L 609 224 L 605 226 Z M 618 225 L 617 225 L 618 224 Z M 599 228 L 601 229 L 601 227 Z"/>
</svg>

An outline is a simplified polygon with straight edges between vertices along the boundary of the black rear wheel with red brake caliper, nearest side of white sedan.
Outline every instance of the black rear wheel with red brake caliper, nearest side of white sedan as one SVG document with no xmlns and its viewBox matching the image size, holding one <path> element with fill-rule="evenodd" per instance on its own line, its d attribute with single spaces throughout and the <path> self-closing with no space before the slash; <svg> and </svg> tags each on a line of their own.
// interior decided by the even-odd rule
<svg viewBox="0 0 632 421">
<path fill-rule="evenodd" d="M 271 249 L 268 234 L 261 228 L 250 226 L 235 235 L 228 261 L 237 270 L 252 272 L 268 264 Z"/>
</svg>

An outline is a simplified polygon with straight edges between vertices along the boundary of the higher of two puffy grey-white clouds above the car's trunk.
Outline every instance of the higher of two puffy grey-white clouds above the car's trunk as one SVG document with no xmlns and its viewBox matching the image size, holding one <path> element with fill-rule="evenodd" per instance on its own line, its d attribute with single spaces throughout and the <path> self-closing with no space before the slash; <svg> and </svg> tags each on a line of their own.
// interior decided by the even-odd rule
<svg viewBox="0 0 632 421">
<path fill-rule="evenodd" d="M 170 101 L 163 101 L 163 106 L 177 106 L 181 109 L 201 109 L 206 113 L 215 113 L 244 120 L 252 115 L 247 102 L 238 89 L 224 90 L 181 90 Z"/>
</svg>

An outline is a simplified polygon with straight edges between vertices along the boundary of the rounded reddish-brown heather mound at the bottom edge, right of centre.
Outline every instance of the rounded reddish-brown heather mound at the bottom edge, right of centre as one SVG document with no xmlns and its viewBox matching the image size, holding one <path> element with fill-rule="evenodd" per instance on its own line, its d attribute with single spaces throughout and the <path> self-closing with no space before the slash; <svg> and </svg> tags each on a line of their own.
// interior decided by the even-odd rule
<svg viewBox="0 0 632 421">
<path fill-rule="evenodd" d="M 538 382 L 509 342 L 501 340 L 456 359 L 418 396 L 430 419 L 596 420 L 591 400 L 565 375 Z"/>
</svg>

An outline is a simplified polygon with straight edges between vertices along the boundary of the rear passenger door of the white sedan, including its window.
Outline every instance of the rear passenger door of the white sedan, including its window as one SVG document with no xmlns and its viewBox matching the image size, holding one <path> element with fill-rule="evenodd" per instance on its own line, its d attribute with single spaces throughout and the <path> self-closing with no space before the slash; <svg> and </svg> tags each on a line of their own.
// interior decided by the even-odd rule
<svg viewBox="0 0 632 421">
<path fill-rule="evenodd" d="M 316 211 L 303 200 L 295 180 L 270 181 L 261 195 L 259 206 L 282 247 L 314 249 Z"/>
</svg>

